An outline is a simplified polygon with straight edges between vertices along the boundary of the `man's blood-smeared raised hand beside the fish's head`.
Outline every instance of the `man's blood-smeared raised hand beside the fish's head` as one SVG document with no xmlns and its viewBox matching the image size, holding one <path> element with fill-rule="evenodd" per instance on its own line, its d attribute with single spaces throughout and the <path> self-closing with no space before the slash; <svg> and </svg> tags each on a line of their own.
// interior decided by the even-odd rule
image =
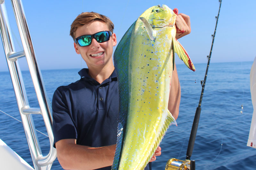
<svg viewBox="0 0 256 170">
<path fill-rule="evenodd" d="M 189 16 L 183 13 L 178 14 L 176 17 L 175 26 L 177 29 L 175 37 L 176 39 L 188 35 L 191 32 Z"/>
</svg>

